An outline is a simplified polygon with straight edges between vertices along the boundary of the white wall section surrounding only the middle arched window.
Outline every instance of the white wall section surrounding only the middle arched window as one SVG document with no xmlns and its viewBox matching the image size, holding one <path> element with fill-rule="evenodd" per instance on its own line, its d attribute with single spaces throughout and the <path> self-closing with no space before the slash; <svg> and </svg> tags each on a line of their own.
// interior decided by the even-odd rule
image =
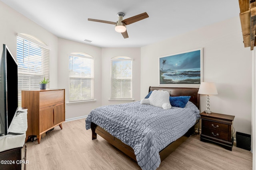
<svg viewBox="0 0 256 170">
<path fill-rule="evenodd" d="M 94 99 L 96 102 L 66 104 L 66 119 L 83 117 L 101 106 L 101 48 L 58 38 L 58 88 L 66 89 L 68 102 L 68 60 L 70 53 L 82 52 L 94 57 Z"/>
</svg>

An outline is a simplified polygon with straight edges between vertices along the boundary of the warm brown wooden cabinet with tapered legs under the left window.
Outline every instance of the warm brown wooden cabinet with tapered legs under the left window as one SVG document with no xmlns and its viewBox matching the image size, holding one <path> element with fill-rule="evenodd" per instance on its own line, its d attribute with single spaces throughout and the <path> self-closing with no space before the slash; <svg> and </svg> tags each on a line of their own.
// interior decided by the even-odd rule
<svg viewBox="0 0 256 170">
<path fill-rule="evenodd" d="M 22 90 L 22 107 L 28 107 L 28 136 L 36 135 L 38 144 L 42 134 L 65 121 L 65 89 Z"/>
</svg>

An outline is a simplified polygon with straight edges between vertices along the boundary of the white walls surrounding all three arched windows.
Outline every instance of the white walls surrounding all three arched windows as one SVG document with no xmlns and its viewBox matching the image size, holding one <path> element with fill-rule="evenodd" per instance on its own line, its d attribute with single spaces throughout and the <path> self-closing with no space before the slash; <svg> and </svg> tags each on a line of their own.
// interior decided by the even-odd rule
<svg viewBox="0 0 256 170">
<path fill-rule="evenodd" d="M 48 45 L 50 48 L 50 88 L 64 88 L 66 90 L 66 102 L 68 102 L 68 55 L 72 52 L 84 52 L 95 58 L 94 95 L 96 102 L 66 104 L 66 119 L 84 117 L 92 109 L 102 106 L 102 103 L 104 105 L 123 103 L 108 101 L 110 96 L 110 58 L 112 57 L 128 56 L 134 59 L 133 96 L 135 101 L 140 100 L 140 48 L 109 48 L 102 50 L 99 47 L 58 38 L 2 2 L 0 2 L 0 14 L 2 16 L 0 21 L 4 23 L 0 27 L 0 44 L 6 44 L 14 58 L 16 58 L 16 33 L 30 34 Z M 2 51 L 2 45 L 0 45 L 0 51 Z M 102 56 L 105 57 L 104 60 L 102 60 Z M 104 64 L 103 67 L 102 64 Z M 102 90 L 104 90 L 104 93 L 102 93 Z"/>
</svg>

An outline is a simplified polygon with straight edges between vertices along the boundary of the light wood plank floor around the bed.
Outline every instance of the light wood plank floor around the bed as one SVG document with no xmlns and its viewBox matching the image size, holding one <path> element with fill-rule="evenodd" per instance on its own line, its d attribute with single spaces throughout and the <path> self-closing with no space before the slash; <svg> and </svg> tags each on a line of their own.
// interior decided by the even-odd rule
<svg viewBox="0 0 256 170">
<path fill-rule="evenodd" d="M 140 166 L 99 135 L 91 140 L 85 119 L 62 123 L 40 141 L 28 142 L 27 170 L 140 170 Z M 251 170 L 252 153 L 233 146 L 232 151 L 189 137 L 158 170 Z"/>
</svg>

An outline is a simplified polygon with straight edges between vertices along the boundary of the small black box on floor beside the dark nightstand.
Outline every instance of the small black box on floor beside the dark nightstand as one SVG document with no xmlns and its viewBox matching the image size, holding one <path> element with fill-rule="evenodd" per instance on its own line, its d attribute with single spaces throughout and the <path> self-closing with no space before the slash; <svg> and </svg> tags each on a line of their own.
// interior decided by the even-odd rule
<svg viewBox="0 0 256 170">
<path fill-rule="evenodd" d="M 236 132 L 236 147 L 251 150 L 251 135 Z"/>
</svg>

